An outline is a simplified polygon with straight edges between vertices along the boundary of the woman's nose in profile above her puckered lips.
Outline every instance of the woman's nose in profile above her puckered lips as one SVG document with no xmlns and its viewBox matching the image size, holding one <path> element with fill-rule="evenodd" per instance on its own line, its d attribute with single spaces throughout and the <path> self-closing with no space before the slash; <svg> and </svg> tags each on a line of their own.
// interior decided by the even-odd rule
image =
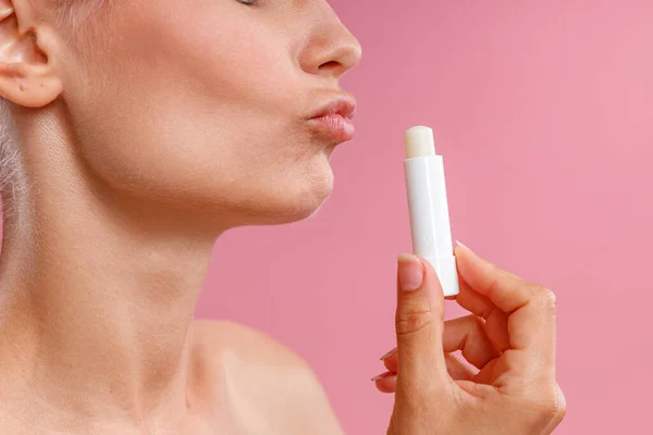
<svg viewBox="0 0 653 435">
<path fill-rule="evenodd" d="M 316 21 L 308 44 L 299 55 L 301 69 L 309 74 L 340 78 L 360 61 L 360 44 L 331 8 Z"/>
</svg>

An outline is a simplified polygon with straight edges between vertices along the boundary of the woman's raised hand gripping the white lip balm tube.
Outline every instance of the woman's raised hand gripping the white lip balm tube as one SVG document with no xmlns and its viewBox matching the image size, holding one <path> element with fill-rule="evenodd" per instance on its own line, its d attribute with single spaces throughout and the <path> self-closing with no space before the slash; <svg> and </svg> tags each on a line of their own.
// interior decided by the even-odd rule
<svg viewBox="0 0 653 435">
<path fill-rule="evenodd" d="M 397 348 L 373 378 L 396 393 L 389 435 L 550 434 L 565 415 L 555 378 L 555 297 L 456 248 L 458 303 L 472 315 L 444 322 L 432 266 L 399 257 Z M 449 352 L 461 350 L 477 369 Z"/>
</svg>

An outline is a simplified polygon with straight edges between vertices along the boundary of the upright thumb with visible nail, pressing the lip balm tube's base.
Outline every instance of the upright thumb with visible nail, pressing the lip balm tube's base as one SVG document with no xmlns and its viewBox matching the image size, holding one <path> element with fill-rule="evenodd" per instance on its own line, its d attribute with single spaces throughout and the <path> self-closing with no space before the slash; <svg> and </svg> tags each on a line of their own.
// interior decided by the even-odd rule
<svg viewBox="0 0 653 435">
<path fill-rule="evenodd" d="M 451 383 L 442 345 L 444 295 L 431 264 L 402 254 L 397 265 L 397 394 L 433 397 Z"/>
</svg>

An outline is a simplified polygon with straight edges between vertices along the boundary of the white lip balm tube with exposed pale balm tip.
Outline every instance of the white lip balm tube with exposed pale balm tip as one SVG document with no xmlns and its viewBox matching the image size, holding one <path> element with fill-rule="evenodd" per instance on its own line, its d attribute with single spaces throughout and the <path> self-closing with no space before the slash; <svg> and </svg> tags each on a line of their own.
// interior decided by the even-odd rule
<svg viewBox="0 0 653 435">
<path fill-rule="evenodd" d="M 444 296 L 455 296 L 459 293 L 458 273 L 452 245 L 442 156 L 435 154 L 433 130 L 429 127 L 408 129 L 405 142 L 404 170 L 412 252 L 431 263 Z"/>
</svg>

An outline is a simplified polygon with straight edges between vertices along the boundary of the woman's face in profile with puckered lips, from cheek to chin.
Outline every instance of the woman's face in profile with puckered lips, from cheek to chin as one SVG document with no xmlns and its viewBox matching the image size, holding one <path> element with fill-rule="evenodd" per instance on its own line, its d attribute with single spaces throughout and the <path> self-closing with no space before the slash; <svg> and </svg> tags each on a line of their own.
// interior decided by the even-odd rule
<svg viewBox="0 0 653 435">
<path fill-rule="evenodd" d="M 299 220 L 329 196 L 350 132 L 309 119 L 352 101 L 338 78 L 360 47 L 324 0 L 118 1 L 93 23 L 60 30 L 76 42 L 58 67 L 102 183 L 225 225 Z"/>
</svg>

